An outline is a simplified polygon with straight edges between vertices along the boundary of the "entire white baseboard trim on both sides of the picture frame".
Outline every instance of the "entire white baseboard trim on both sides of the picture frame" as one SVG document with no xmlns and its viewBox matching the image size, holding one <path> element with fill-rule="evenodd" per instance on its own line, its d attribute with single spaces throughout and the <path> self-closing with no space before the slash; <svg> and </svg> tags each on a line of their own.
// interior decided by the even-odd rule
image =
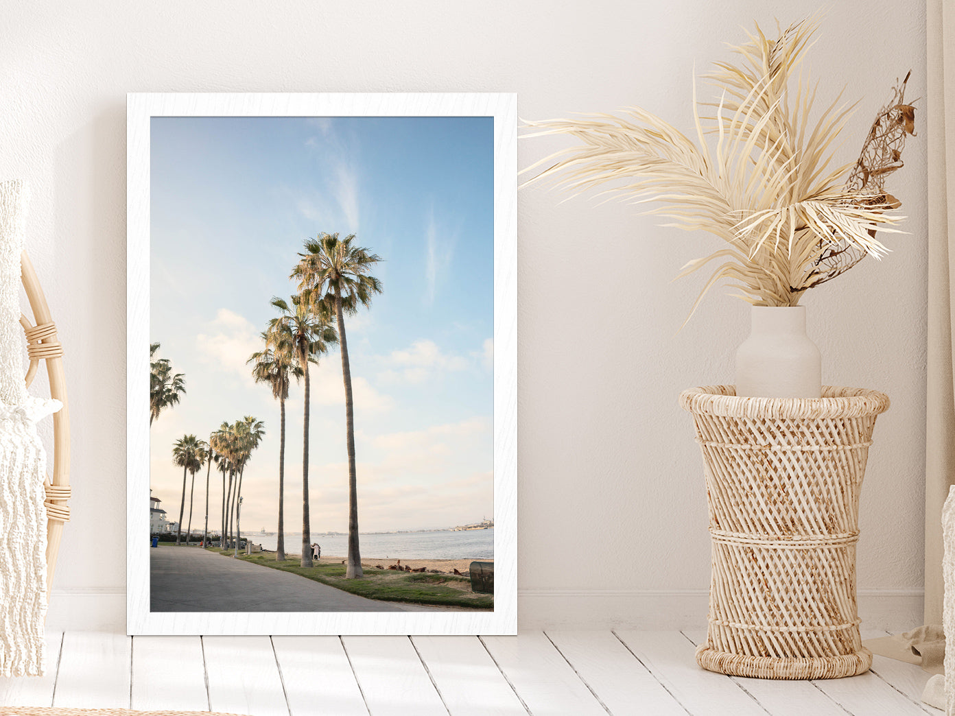
<svg viewBox="0 0 955 716">
<path fill-rule="evenodd" d="M 706 627 L 706 590 L 552 590 L 518 592 L 520 629 Z M 905 631 L 923 621 L 923 590 L 860 589 L 862 628 Z M 116 589 L 54 589 L 51 631 L 126 631 L 126 593 Z"/>
</svg>

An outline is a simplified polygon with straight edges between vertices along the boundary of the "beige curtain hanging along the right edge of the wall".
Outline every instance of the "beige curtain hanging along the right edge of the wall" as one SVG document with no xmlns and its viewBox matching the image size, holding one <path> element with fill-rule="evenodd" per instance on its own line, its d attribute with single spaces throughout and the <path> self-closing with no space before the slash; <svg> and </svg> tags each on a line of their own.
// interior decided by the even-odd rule
<svg viewBox="0 0 955 716">
<path fill-rule="evenodd" d="M 955 484 L 955 4 L 927 0 L 928 384 L 925 617 L 942 623 L 942 505 Z M 948 207 L 951 207 L 949 210 Z"/>
</svg>

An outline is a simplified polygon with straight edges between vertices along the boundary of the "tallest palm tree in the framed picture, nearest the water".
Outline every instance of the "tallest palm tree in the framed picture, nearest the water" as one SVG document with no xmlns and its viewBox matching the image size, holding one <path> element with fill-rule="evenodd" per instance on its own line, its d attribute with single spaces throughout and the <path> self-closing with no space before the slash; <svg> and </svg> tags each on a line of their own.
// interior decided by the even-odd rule
<svg viewBox="0 0 955 716">
<path fill-rule="evenodd" d="M 289 278 L 299 280 L 299 291 L 308 291 L 311 305 L 320 310 L 330 306 L 338 323 L 342 353 L 342 381 L 345 383 L 345 431 L 349 453 L 349 558 L 347 579 L 363 576 L 358 549 L 358 487 L 355 474 L 354 401 L 351 395 L 349 344 L 345 335 L 345 314 L 353 315 L 359 305 L 371 305 L 371 296 L 381 293 L 381 282 L 369 273 L 381 259 L 367 248 L 353 244 L 354 234 L 319 234 L 305 242 L 305 253 Z"/>
</svg>

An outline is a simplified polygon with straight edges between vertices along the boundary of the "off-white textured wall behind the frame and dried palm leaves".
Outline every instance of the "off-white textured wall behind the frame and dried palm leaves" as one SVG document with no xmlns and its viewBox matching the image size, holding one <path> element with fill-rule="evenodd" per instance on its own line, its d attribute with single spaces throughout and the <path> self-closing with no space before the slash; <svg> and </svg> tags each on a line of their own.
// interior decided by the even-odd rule
<svg viewBox="0 0 955 716">
<path fill-rule="evenodd" d="M 840 150 L 852 160 L 897 76 L 911 68 L 908 96 L 924 96 L 923 8 L 832 5 L 809 67 L 823 98 L 843 85 L 864 97 Z M 74 519 L 52 623 L 122 618 L 127 92 L 506 91 L 527 118 L 637 104 L 689 128 L 694 63 L 702 72 L 727 59 L 723 43 L 741 42 L 753 19 L 771 29 L 775 16 L 787 24 L 817 6 L 8 3 L 0 176 L 32 183 L 29 247 L 68 350 L 74 420 Z M 892 181 L 911 234 L 804 302 L 824 380 L 893 401 L 862 496 L 869 625 L 921 620 L 924 100 L 917 107 L 919 137 Z M 522 142 L 521 166 L 560 145 Z M 521 624 L 699 623 L 710 564 L 702 462 L 676 398 L 732 382 L 748 309 L 717 289 L 677 333 L 702 277 L 670 280 L 716 240 L 658 228 L 621 204 L 562 199 L 537 188 L 520 197 Z M 604 260 L 578 263 L 581 242 Z M 68 608 L 79 610 L 69 621 Z"/>
</svg>

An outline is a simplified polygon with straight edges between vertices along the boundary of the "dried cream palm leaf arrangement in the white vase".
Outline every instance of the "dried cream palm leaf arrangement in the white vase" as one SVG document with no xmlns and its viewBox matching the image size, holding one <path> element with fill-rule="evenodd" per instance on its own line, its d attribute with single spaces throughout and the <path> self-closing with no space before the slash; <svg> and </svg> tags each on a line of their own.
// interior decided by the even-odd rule
<svg viewBox="0 0 955 716">
<path fill-rule="evenodd" d="M 694 86 L 696 141 L 640 108 L 623 116 L 525 122 L 534 128 L 525 137 L 571 135 L 583 145 L 525 169 L 539 173 L 524 185 L 555 179 L 579 193 L 612 182 L 610 193 L 656 202 L 647 214 L 673 220 L 664 225 L 725 240 L 728 246 L 679 274 L 722 260 L 694 309 L 722 279 L 750 304 L 798 305 L 806 290 L 865 256 L 881 258 L 888 249 L 877 231 L 902 233 L 892 228 L 904 219 L 893 211 L 901 203 L 884 182 L 902 166 L 905 137 L 915 134 L 915 110 L 904 101 L 906 75 L 859 159 L 833 165 L 832 148 L 858 102 L 842 104 L 839 93 L 811 119 L 818 81 L 796 71 L 816 30 L 817 21 L 806 19 L 770 39 L 757 25 L 747 43 L 732 47 L 740 61 L 717 62 L 704 75 L 722 91 L 719 102 L 698 102 Z"/>
</svg>

